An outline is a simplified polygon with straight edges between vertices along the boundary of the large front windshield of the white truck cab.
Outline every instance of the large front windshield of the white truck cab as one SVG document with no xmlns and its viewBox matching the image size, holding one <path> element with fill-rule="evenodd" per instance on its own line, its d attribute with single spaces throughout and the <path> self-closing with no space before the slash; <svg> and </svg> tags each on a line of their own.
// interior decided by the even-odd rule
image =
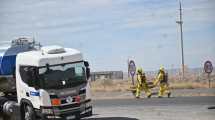
<svg viewBox="0 0 215 120">
<path fill-rule="evenodd" d="M 39 68 L 39 79 L 44 89 L 70 88 L 87 82 L 83 62 Z"/>
</svg>

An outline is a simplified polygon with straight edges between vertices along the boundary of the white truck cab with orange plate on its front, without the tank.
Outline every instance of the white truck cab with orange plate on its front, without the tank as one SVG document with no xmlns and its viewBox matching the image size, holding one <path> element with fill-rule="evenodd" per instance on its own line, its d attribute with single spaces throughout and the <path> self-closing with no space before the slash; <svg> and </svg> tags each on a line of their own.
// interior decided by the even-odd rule
<svg viewBox="0 0 215 120">
<path fill-rule="evenodd" d="M 92 115 L 89 64 L 78 50 L 48 46 L 21 52 L 15 69 L 22 120 L 70 120 Z"/>
</svg>

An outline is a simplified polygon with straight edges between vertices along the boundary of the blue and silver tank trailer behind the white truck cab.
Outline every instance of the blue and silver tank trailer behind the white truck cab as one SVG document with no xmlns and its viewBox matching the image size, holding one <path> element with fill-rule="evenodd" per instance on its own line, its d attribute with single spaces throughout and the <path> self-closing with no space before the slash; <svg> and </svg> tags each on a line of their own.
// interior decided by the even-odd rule
<svg viewBox="0 0 215 120">
<path fill-rule="evenodd" d="M 18 53 L 35 50 L 35 42 L 27 38 L 13 40 L 11 46 L 0 51 L 0 92 L 16 92 L 15 65 Z"/>
</svg>

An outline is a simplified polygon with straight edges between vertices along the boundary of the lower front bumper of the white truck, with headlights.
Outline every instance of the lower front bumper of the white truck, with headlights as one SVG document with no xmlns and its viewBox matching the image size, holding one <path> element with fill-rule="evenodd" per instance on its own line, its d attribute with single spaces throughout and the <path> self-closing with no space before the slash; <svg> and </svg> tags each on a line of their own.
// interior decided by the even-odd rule
<svg viewBox="0 0 215 120">
<path fill-rule="evenodd" d="M 81 104 L 72 104 L 59 107 L 41 107 L 37 115 L 42 120 L 73 120 L 92 116 L 91 101 L 85 101 Z"/>
</svg>

